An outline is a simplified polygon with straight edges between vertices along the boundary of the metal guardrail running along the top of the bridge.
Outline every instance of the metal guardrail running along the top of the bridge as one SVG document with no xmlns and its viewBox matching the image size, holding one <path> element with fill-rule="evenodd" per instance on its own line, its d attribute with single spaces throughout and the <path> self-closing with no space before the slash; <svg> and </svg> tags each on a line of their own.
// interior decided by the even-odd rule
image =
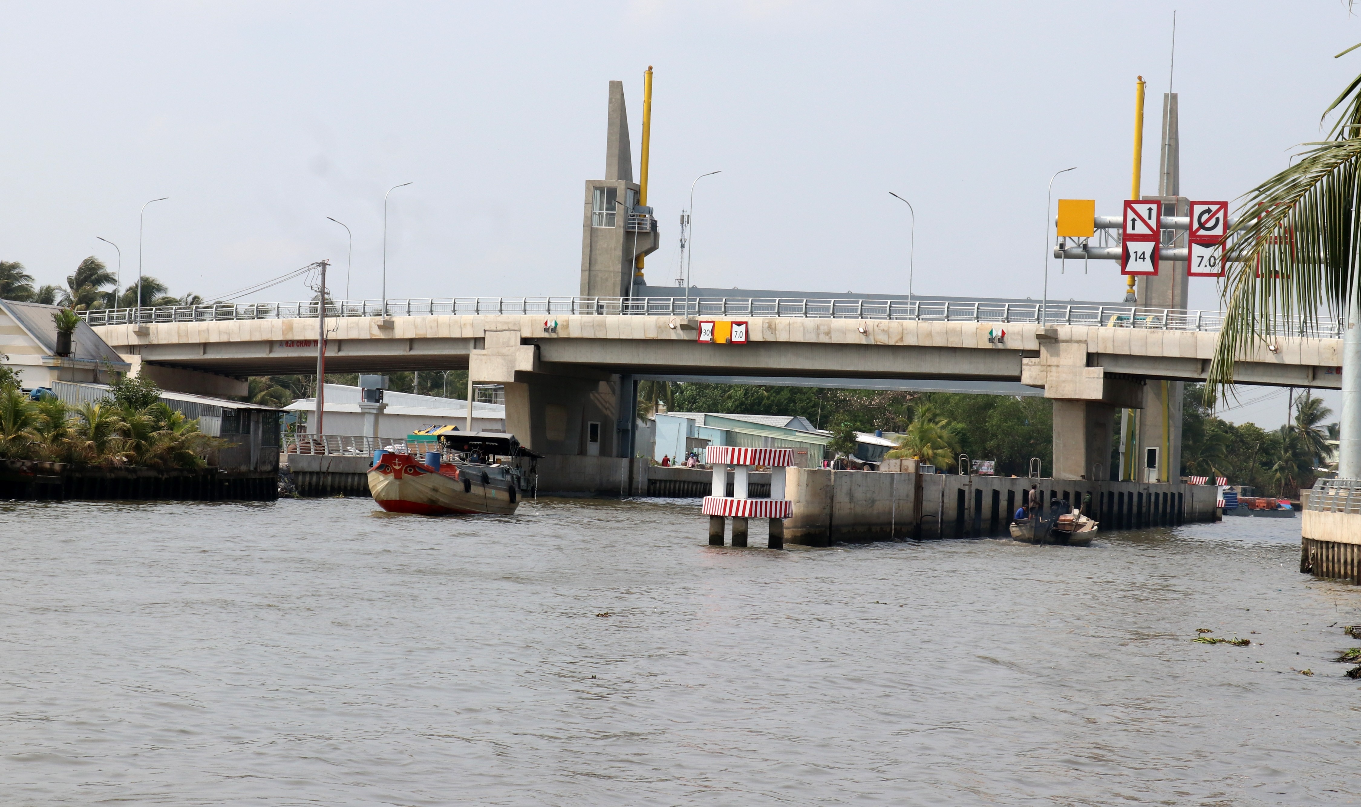
<svg viewBox="0 0 1361 807">
<path fill-rule="evenodd" d="M 837 299 L 787 297 L 442 297 L 421 299 L 352 299 L 327 303 L 327 317 L 410 316 L 674 316 L 674 317 L 798 317 L 832 320 L 897 320 L 920 323 L 1037 324 L 1038 302 L 968 302 L 906 299 Z M 316 301 L 155 306 L 80 312 L 90 325 L 154 323 L 218 323 L 231 320 L 314 318 Z M 1153 309 L 1115 305 L 1048 303 L 1051 325 L 1102 325 L 1150 331 L 1209 331 L 1224 325 L 1222 312 Z M 1337 318 L 1278 320 L 1275 333 L 1341 339 Z"/>
</svg>

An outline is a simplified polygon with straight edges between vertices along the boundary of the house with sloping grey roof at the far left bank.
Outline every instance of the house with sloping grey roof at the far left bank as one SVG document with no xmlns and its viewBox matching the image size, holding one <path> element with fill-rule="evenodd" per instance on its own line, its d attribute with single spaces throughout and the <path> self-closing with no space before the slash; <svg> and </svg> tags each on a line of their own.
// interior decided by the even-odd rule
<svg viewBox="0 0 1361 807">
<path fill-rule="evenodd" d="M 0 299 L 0 365 L 16 370 L 22 386 L 50 389 L 54 381 L 112 381 L 105 370 L 132 369 L 84 323 L 71 335 L 71 355 L 57 355 L 52 314 L 59 310 L 54 305 Z"/>
</svg>

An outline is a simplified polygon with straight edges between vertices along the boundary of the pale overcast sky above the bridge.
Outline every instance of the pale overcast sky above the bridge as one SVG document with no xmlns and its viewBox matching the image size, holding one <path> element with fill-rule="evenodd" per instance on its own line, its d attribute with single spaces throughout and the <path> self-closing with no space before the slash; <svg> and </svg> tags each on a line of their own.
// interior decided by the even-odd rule
<svg viewBox="0 0 1361 807">
<path fill-rule="evenodd" d="M 604 171 L 607 82 L 674 283 L 695 176 L 702 286 L 1041 294 L 1045 184 L 1119 214 L 1135 76 L 1149 80 L 1143 191 L 1177 8 L 1181 189 L 1233 199 L 1320 136 L 1361 73 L 1361 18 L 1292 3 L 3 3 L 0 259 L 60 283 L 87 254 L 214 298 L 331 259 L 377 297 L 577 291 L 584 180 Z M 1051 264 L 1051 298 L 1112 299 L 1115 261 Z M 308 295 L 301 282 L 261 299 Z M 1215 308 L 1213 280 L 1191 305 Z M 1268 391 L 1260 391 L 1266 393 Z M 1258 397 L 1247 391 L 1245 399 Z M 1277 425 L 1279 404 L 1228 412 Z M 1263 408 L 1264 407 L 1264 408 Z M 1271 408 L 1278 410 L 1271 421 Z"/>
</svg>

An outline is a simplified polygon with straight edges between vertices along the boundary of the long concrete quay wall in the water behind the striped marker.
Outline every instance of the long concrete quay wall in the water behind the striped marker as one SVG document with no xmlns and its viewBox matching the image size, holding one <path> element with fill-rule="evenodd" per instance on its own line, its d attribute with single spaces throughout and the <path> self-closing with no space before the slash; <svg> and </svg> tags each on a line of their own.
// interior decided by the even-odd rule
<svg viewBox="0 0 1361 807">
<path fill-rule="evenodd" d="M 789 468 L 793 513 L 784 539 L 806 546 L 836 542 L 991 538 L 1009 524 L 1032 483 L 1044 499 L 1072 506 L 1092 494 L 1089 513 L 1102 529 L 1131 529 L 1215 520 L 1218 489 L 1068 479 L 1013 479 L 947 474 L 885 474 Z"/>
</svg>

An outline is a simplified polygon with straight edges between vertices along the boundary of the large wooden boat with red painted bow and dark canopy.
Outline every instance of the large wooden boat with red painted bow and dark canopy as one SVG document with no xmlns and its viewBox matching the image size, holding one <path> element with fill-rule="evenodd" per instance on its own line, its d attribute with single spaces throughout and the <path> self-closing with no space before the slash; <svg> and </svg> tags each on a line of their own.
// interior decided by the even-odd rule
<svg viewBox="0 0 1361 807">
<path fill-rule="evenodd" d="M 440 435 L 438 452 L 423 459 L 411 453 L 381 450 L 369 470 L 369 493 L 391 513 L 422 516 L 502 514 L 520 506 L 527 475 L 520 459 L 538 455 L 520 448 L 509 434 Z M 460 450 L 461 449 L 461 450 Z M 444 457 L 449 456 L 449 461 Z M 508 464 L 490 464 L 483 457 L 501 456 Z"/>
</svg>

